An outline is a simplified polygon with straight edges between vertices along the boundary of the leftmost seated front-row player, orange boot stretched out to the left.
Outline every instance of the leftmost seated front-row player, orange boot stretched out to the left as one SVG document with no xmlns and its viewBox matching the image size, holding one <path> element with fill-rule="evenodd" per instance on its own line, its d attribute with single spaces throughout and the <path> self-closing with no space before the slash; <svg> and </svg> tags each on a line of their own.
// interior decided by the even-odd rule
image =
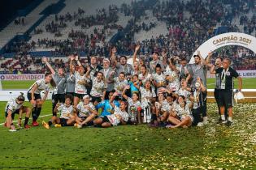
<svg viewBox="0 0 256 170">
<path fill-rule="evenodd" d="M 72 106 L 72 96 L 66 95 L 65 104 L 57 104 L 54 108 L 54 112 L 59 112 L 60 117 L 53 116 L 48 123 L 46 123 L 46 121 L 42 121 L 42 125 L 44 125 L 46 129 L 50 129 L 50 125 L 53 124 L 55 124 L 55 127 L 74 125 L 75 116 L 73 114 L 74 108 Z"/>
</svg>

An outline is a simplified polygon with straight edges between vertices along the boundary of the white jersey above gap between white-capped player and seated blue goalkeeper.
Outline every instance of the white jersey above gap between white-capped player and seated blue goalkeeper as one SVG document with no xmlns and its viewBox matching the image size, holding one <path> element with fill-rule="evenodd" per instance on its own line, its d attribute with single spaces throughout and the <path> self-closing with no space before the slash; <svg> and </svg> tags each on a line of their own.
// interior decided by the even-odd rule
<svg viewBox="0 0 256 170">
<path fill-rule="evenodd" d="M 107 87 L 106 83 L 102 80 L 98 82 L 98 79 L 95 77 L 93 77 L 92 80 L 93 80 L 93 86 L 92 86 L 90 95 L 94 97 L 102 97 L 103 91 L 105 91 Z"/>
</svg>

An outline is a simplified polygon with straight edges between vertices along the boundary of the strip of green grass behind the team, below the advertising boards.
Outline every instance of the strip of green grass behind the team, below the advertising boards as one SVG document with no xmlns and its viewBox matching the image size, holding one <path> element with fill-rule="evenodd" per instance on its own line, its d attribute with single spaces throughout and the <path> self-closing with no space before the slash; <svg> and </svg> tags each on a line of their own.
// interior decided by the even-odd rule
<svg viewBox="0 0 256 170">
<path fill-rule="evenodd" d="M 28 89 L 34 81 L 2 81 L 2 89 Z M 207 79 L 207 88 L 215 88 L 215 79 Z M 237 79 L 235 80 L 237 88 Z M 243 79 L 244 89 L 256 89 L 256 78 Z"/>
</svg>

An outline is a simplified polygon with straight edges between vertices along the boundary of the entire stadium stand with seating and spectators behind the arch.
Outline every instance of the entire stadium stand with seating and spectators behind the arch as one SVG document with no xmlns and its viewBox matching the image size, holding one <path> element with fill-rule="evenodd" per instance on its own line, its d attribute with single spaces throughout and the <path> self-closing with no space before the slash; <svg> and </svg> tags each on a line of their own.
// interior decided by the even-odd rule
<svg viewBox="0 0 256 170">
<path fill-rule="evenodd" d="M 249 0 L 46 0 L 24 17 L 24 25 L 15 25 L 13 21 L 0 32 L 0 71 L 37 72 L 44 69 L 28 66 L 26 60 L 22 62 L 26 57 L 33 61 L 43 56 L 65 57 L 71 53 L 79 53 L 81 57 L 109 57 L 111 45 L 117 47 L 119 54 L 131 55 L 136 43 L 141 44 L 142 55 L 167 49 L 170 56 L 183 56 L 189 60 L 199 45 L 219 33 L 245 32 L 255 36 L 254 3 Z M 247 49 L 228 47 L 217 54 L 238 58 L 233 62 L 238 70 L 255 69 L 255 54 Z M 247 64 L 248 61 L 253 64 L 238 66 L 238 62 Z M 21 70 L 22 65 L 28 66 L 28 70 Z"/>
</svg>

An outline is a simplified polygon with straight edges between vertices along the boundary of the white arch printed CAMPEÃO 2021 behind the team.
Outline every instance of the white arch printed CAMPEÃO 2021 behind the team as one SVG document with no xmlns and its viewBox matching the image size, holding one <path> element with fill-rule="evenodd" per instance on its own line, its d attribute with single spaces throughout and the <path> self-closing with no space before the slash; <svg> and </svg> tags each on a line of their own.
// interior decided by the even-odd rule
<svg viewBox="0 0 256 170">
<path fill-rule="evenodd" d="M 199 48 L 193 53 L 193 56 L 197 55 L 197 51 L 200 51 L 202 57 L 206 58 L 208 53 L 213 52 L 220 47 L 228 45 L 243 46 L 256 53 L 256 38 L 254 36 L 250 36 L 248 34 L 240 32 L 228 32 L 224 34 L 219 34 L 218 36 L 214 36 L 209 40 L 206 40 L 206 42 L 200 45 Z M 194 63 L 193 56 L 191 57 L 189 63 Z"/>
</svg>

